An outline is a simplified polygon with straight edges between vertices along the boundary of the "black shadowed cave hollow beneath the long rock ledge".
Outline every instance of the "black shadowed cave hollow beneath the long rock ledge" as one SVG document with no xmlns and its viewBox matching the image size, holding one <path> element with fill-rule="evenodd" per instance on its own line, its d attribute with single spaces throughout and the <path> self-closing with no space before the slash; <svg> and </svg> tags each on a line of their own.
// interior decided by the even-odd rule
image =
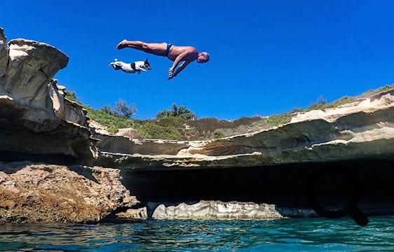
<svg viewBox="0 0 394 252">
<path fill-rule="evenodd" d="M 221 200 L 255 202 L 278 207 L 309 208 L 306 197 L 308 179 L 322 167 L 346 167 L 360 183 L 360 208 L 368 214 L 394 213 L 394 162 L 353 160 L 348 162 L 233 167 L 225 169 L 177 169 L 143 171 L 121 169 L 123 184 L 143 205 L 162 202 Z M 165 168 L 163 168 L 165 169 Z M 325 197 L 325 190 L 316 191 Z M 348 184 L 332 181 L 337 194 L 332 198 L 346 202 Z M 341 192 L 341 193 L 340 193 Z M 323 199 L 325 200 L 325 199 Z"/>
</svg>

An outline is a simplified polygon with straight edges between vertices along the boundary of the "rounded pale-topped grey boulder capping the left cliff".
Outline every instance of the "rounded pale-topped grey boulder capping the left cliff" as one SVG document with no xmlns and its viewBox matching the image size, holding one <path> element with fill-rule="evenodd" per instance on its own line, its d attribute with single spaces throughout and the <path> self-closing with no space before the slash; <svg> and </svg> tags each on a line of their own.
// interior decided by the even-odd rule
<svg viewBox="0 0 394 252">
<path fill-rule="evenodd" d="M 52 106 L 48 106 L 48 83 L 57 71 L 67 66 L 67 55 L 46 43 L 26 39 L 13 39 L 8 46 L 2 94 L 21 106 L 53 114 Z"/>
</svg>

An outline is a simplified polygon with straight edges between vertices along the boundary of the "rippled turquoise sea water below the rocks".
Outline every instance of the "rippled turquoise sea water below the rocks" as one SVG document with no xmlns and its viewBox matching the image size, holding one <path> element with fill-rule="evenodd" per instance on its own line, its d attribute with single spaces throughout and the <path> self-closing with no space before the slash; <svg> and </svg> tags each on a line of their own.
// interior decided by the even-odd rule
<svg viewBox="0 0 394 252">
<path fill-rule="evenodd" d="M 394 217 L 0 225 L 1 251 L 394 251 Z"/>
</svg>

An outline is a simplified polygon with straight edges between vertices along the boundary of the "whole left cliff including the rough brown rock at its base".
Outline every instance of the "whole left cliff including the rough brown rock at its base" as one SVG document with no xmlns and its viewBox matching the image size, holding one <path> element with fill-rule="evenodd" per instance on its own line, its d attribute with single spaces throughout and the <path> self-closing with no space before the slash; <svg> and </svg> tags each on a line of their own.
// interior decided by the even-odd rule
<svg viewBox="0 0 394 252">
<path fill-rule="evenodd" d="M 53 79 L 68 60 L 45 43 L 7 43 L 0 28 L 0 223 L 96 223 L 137 203 L 119 170 L 84 166 L 95 158 L 86 112 Z"/>
</svg>

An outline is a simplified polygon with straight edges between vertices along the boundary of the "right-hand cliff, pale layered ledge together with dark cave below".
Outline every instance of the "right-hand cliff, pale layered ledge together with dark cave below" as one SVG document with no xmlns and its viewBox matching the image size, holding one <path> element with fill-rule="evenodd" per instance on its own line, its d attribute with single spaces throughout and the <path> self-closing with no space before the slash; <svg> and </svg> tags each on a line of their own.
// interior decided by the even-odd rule
<svg viewBox="0 0 394 252">
<path fill-rule="evenodd" d="M 161 218 L 187 214 L 193 207 L 175 206 L 200 200 L 274 204 L 290 213 L 308 209 L 308 183 L 327 168 L 349 171 L 355 179 L 329 178 L 331 183 L 314 192 L 321 202 L 345 202 L 341 207 L 346 207 L 353 197 L 365 214 L 394 214 L 393 89 L 337 108 L 294 113 L 285 125 L 224 139 L 95 137 L 96 165 L 121 169 L 125 186 L 144 204 L 164 202 Z M 335 196 L 327 199 L 327 190 Z M 357 193 L 351 196 L 352 191 Z M 154 209 L 148 212 L 154 215 Z"/>
</svg>

